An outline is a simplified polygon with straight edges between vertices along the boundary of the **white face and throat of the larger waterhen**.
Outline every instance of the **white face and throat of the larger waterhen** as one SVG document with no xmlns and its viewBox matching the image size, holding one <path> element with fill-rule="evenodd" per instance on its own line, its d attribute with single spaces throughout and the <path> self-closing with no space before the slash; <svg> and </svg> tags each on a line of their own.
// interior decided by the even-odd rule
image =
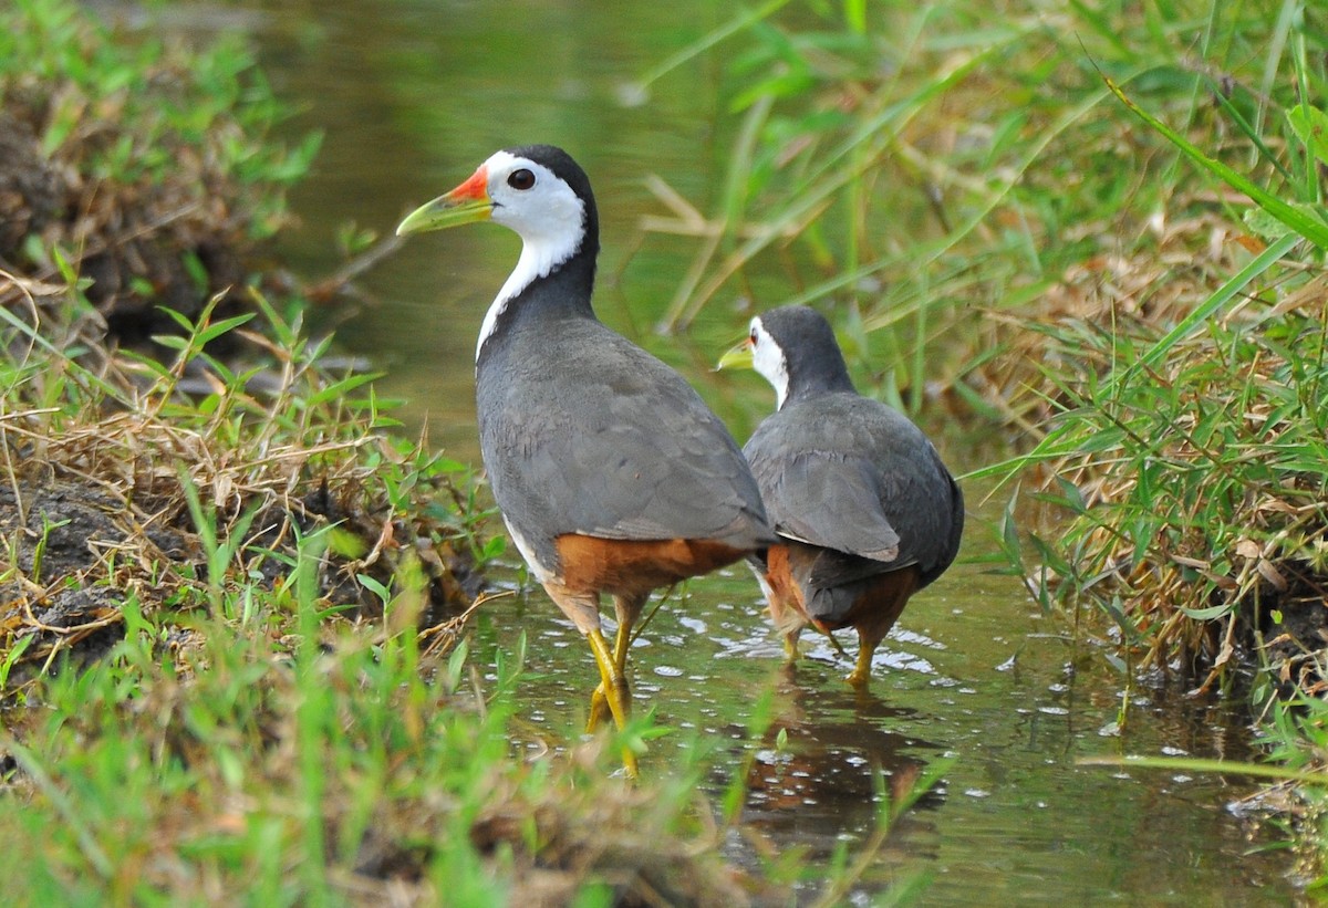
<svg viewBox="0 0 1328 908">
<path fill-rule="evenodd" d="M 475 344 L 475 360 L 493 336 L 507 304 L 535 280 L 547 277 L 554 268 L 572 258 L 586 236 L 586 203 L 551 170 L 507 151 L 494 153 L 483 166 L 489 173 L 489 195 L 494 202 L 490 219 L 517 231 L 521 236 L 521 258 L 485 313 Z M 507 177 L 523 169 L 535 174 L 535 186 L 515 190 L 507 185 Z"/>
</svg>

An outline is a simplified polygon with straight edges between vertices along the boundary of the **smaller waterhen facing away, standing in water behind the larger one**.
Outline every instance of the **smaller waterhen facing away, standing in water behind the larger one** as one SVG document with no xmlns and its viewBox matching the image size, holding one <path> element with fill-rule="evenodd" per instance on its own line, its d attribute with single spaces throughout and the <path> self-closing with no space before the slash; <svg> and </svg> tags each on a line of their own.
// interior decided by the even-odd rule
<svg viewBox="0 0 1328 908">
<path fill-rule="evenodd" d="M 780 536 L 749 558 L 770 616 L 790 658 L 806 624 L 827 635 L 855 628 L 847 681 L 862 688 L 908 597 L 959 552 L 959 486 L 918 426 L 854 389 L 817 311 L 754 317 L 720 365 L 750 365 L 774 385 L 776 412 L 742 449 Z"/>
</svg>

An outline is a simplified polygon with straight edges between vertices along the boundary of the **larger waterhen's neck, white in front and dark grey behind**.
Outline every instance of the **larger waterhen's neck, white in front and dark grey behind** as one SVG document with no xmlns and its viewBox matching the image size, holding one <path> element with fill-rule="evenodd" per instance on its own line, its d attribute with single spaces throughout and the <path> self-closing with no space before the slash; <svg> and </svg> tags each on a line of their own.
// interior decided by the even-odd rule
<svg viewBox="0 0 1328 908">
<path fill-rule="evenodd" d="M 550 247 L 526 242 L 521 259 L 485 313 L 475 345 L 475 362 L 485 348 L 525 320 L 594 319 L 595 256 L 599 240 L 586 236 L 567 258 L 558 259 Z"/>
</svg>

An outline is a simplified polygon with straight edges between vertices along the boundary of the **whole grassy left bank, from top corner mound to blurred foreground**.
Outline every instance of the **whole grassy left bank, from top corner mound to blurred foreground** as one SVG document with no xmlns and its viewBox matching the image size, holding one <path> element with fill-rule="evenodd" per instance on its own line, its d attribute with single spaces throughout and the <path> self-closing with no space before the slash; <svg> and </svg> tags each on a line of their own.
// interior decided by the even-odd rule
<svg viewBox="0 0 1328 908">
<path fill-rule="evenodd" d="M 7 901 L 850 891 L 935 773 L 882 795 L 829 870 L 738 870 L 721 847 L 750 761 L 716 807 L 704 739 L 661 778 L 614 775 L 649 717 L 526 759 L 548 742 L 513 722 L 521 654 L 486 653 L 485 678 L 462 633 L 502 552 L 469 469 L 394 437 L 373 376 L 333 372 L 331 341 L 283 315 L 300 301 L 247 275 L 312 149 L 267 139 L 280 110 L 247 54 L 23 0 L 0 15 L 0 98 L 19 151 L 0 174 L 19 224 L 0 251 Z M 108 321 L 153 354 L 105 344 Z"/>
</svg>

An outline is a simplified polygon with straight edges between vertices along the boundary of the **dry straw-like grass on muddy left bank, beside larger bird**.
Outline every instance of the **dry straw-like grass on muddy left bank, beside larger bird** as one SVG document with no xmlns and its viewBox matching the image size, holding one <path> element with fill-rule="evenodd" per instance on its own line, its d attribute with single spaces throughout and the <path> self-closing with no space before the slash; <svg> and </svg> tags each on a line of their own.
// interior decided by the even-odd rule
<svg viewBox="0 0 1328 908">
<path fill-rule="evenodd" d="M 412 500 L 389 502 L 381 473 L 414 469 L 420 449 L 373 429 L 365 408 L 335 393 L 345 377 L 325 373 L 316 350 L 236 329 L 266 352 L 247 376 L 193 346 L 155 366 L 105 346 L 98 320 L 72 308 L 68 289 L 44 299 L 32 289 L 0 276 L 0 295 L 21 303 L 7 309 L 13 362 L 0 402 L 7 652 L 32 637 L 23 658 L 49 664 L 105 645 L 127 596 L 149 611 L 219 609 L 248 579 L 280 587 L 299 538 L 331 524 L 340 542 L 320 564 L 327 607 L 381 615 L 359 577 L 390 588 L 406 563 L 424 572 L 425 624 L 470 603 L 466 518 L 442 526 L 422 516 L 426 499 L 459 514 L 463 490 L 453 477 L 426 475 Z M 198 331 L 208 325 L 210 312 Z M 222 563 L 211 563 L 219 547 Z"/>
</svg>

